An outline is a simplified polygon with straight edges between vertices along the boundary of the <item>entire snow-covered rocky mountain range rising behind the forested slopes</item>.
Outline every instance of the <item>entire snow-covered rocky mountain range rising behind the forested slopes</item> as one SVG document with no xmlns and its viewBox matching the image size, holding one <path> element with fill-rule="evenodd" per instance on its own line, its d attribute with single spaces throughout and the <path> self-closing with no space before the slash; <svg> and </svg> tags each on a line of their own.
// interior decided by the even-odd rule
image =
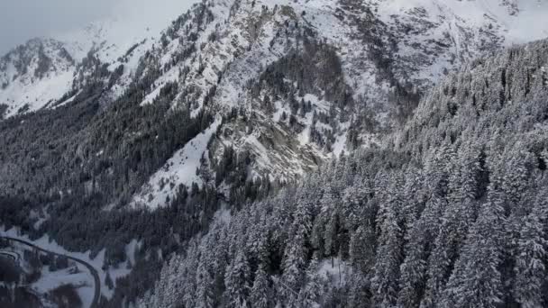
<svg viewBox="0 0 548 308">
<path fill-rule="evenodd" d="M 151 5 L 146 19 L 121 5 L 118 19 L 10 52 L 0 62 L 5 117 L 97 89 L 107 106 L 132 85 L 142 106 L 214 114 L 132 198 L 157 208 L 181 184 L 228 194 L 236 173 L 287 182 L 377 146 L 440 77 L 548 35 L 540 0 L 204 0 L 176 18 L 185 5 Z"/>
</svg>

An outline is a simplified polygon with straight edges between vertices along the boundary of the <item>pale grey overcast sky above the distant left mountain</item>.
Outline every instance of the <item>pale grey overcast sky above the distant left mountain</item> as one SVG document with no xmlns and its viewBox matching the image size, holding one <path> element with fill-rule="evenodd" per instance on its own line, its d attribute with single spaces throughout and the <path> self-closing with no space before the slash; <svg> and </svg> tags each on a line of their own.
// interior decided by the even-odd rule
<svg viewBox="0 0 548 308">
<path fill-rule="evenodd" d="M 29 39 L 68 32 L 104 17 L 120 14 L 120 5 L 132 9 L 177 10 L 196 0 L 0 0 L 0 55 Z M 187 4 L 186 4 L 187 3 Z M 175 4 L 175 5 L 174 5 Z M 154 5 L 154 6 L 151 6 Z M 115 8 L 116 7 L 116 8 Z M 180 12 L 182 14 L 184 12 Z M 167 21 L 166 26 L 169 25 Z"/>
</svg>

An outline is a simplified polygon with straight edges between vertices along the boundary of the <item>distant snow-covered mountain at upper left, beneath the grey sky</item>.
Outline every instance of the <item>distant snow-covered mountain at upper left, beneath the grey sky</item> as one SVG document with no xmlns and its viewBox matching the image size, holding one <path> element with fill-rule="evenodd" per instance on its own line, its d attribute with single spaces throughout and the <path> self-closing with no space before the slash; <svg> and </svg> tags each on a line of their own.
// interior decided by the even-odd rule
<svg viewBox="0 0 548 308">
<path fill-rule="evenodd" d="M 122 87 L 131 82 L 138 60 L 151 49 L 161 30 L 187 10 L 192 1 L 163 3 L 136 7 L 123 0 L 114 5 L 112 17 L 80 30 L 60 33 L 55 39 L 33 39 L 8 52 L 0 59 L 0 105 L 4 105 L 0 112 L 10 117 L 67 103 L 81 90 L 82 80 L 92 79 L 92 70 L 99 69 L 90 67 L 91 58 L 105 65 L 108 70 L 105 75 L 123 65 L 119 85 L 113 89 L 119 95 Z M 142 12 L 147 13 L 146 18 Z"/>
</svg>

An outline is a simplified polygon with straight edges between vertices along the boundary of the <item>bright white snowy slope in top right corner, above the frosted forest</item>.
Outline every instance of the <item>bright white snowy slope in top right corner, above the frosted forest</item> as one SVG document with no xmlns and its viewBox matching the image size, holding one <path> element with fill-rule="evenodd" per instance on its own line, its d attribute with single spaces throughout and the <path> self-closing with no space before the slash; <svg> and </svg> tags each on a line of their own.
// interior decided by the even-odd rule
<svg viewBox="0 0 548 308">
<path fill-rule="evenodd" d="M 398 55 L 423 66 L 415 77 L 439 78 L 447 68 L 498 48 L 548 36 L 548 2 L 536 0 L 372 0 L 395 30 Z M 423 63 L 421 63 L 423 62 Z M 408 67 L 406 67 L 408 68 Z"/>
</svg>

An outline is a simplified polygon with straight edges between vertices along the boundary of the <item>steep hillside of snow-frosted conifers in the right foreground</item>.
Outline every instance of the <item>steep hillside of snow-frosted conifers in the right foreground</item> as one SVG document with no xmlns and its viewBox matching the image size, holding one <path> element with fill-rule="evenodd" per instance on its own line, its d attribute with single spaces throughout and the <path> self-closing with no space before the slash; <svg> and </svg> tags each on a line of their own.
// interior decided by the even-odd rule
<svg viewBox="0 0 548 308">
<path fill-rule="evenodd" d="M 542 307 L 548 41 L 479 59 L 358 151 L 218 219 L 142 307 Z"/>
</svg>

